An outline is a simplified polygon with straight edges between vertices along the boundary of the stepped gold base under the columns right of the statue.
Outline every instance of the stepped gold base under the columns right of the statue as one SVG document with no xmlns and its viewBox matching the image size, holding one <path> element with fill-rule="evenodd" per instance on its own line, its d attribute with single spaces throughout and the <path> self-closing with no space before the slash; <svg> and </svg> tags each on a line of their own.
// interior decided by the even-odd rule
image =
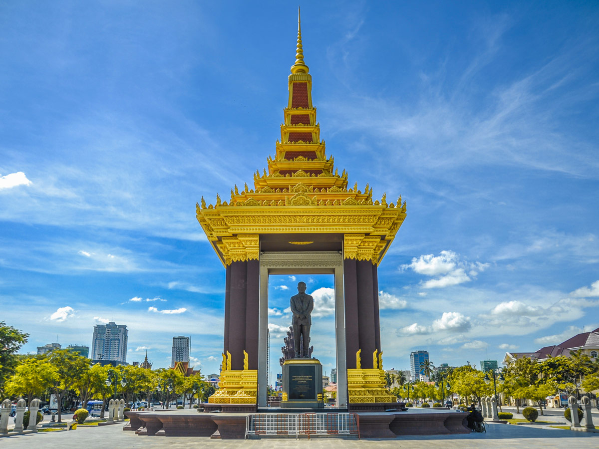
<svg viewBox="0 0 599 449">
<path fill-rule="evenodd" d="M 385 371 L 377 368 L 347 369 L 347 393 L 350 404 L 396 402 L 385 388 Z"/>
</svg>

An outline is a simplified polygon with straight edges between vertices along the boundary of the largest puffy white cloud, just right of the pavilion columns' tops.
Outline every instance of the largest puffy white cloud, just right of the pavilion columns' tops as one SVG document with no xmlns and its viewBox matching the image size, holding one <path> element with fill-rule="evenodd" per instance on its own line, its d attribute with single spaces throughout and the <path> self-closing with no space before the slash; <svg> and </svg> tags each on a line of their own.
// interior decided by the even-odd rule
<svg viewBox="0 0 599 449">
<path fill-rule="evenodd" d="M 453 251 L 441 251 L 438 256 L 422 254 L 420 257 L 414 257 L 412 263 L 401 265 L 401 269 L 412 269 L 418 274 L 435 277 L 424 281 L 422 287 L 439 289 L 471 281 L 488 266 L 488 263 L 459 260 L 459 255 Z"/>
</svg>

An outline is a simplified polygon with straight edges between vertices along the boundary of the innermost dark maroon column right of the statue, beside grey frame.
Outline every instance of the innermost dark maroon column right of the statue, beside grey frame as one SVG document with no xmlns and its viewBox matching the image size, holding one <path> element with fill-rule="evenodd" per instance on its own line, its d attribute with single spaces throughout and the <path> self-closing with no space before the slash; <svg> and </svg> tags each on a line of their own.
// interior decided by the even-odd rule
<svg viewBox="0 0 599 449">
<path fill-rule="evenodd" d="M 356 368 L 358 341 L 358 278 L 356 260 L 343 260 L 343 295 L 345 306 L 345 348 L 347 368 Z"/>
</svg>

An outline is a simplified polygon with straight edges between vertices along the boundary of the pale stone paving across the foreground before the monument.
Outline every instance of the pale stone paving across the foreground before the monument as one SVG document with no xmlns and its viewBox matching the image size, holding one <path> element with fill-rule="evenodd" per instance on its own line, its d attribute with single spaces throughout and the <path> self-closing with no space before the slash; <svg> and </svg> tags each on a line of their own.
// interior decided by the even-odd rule
<svg viewBox="0 0 599 449">
<path fill-rule="evenodd" d="M 349 449 L 428 449 L 442 446 L 443 449 L 587 449 L 599 448 L 599 433 L 588 434 L 570 430 L 549 430 L 507 424 L 488 424 L 487 433 L 467 435 L 438 436 L 401 436 L 395 439 L 332 439 L 320 438 L 295 440 L 289 439 L 250 439 L 217 440 L 199 437 L 138 436 L 134 432 L 124 432 L 122 424 L 103 427 L 79 427 L 70 432 L 37 433 L 0 438 L 0 449 L 65 449 L 102 448 L 102 449 L 189 449 L 190 447 L 208 447 L 214 449 L 277 449 L 286 448 L 349 448 Z"/>
</svg>

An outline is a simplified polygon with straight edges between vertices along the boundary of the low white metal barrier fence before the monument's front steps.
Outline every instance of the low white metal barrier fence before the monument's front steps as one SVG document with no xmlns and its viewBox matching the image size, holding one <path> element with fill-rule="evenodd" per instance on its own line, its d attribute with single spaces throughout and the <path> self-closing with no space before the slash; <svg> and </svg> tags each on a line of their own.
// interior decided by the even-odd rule
<svg viewBox="0 0 599 449">
<path fill-rule="evenodd" d="M 256 413 L 247 415 L 249 435 L 357 435 L 359 418 L 355 413 Z"/>
</svg>

